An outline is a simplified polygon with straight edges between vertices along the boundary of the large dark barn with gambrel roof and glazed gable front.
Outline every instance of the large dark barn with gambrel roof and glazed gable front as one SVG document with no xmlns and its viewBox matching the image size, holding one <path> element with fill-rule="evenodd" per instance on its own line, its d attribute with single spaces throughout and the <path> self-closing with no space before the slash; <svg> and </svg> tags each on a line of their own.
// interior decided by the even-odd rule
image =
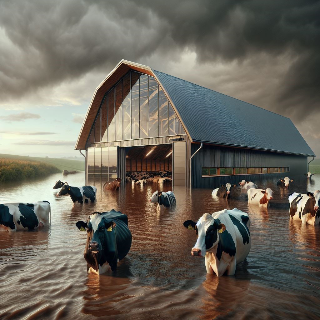
<svg viewBox="0 0 320 320">
<path fill-rule="evenodd" d="M 168 172 L 192 188 L 303 174 L 315 156 L 289 118 L 127 60 L 95 90 L 75 149 L 95 185 Z"/>
</svg>

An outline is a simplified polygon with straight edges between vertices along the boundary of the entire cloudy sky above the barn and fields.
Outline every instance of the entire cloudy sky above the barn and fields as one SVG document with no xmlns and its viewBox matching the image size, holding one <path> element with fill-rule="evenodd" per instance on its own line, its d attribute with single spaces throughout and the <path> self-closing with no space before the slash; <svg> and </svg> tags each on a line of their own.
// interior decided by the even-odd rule
<svg viewBox="0 0 320 320">
<path fill-rule="evenodd" d="M 126 59 L 289 117 L 320 156 L 319 49 L 320 1 L 0 0 L 0 153 L 79 155 Z"/>
</svg>

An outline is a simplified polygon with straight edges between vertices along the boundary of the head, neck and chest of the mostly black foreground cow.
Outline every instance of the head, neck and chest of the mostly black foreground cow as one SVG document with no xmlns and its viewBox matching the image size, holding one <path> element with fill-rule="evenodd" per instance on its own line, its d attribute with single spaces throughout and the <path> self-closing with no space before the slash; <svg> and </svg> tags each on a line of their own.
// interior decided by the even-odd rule
<svg viewBox="0 0 320 320">
<path fill-rule="evenodd" d="M 76 223 L 80 231 L 87 231 L 87 242 L 84 248 L 84 259 L 88 269 L 91 267 L 98 271 L 99 265 L 109 264 L 118 259 L 116 248 L 116 223 L 105 218 L 101 212 L 92 213 L 87 222 Z M 111 269 L 113 267 L 111 265 Z"/>
</svg>

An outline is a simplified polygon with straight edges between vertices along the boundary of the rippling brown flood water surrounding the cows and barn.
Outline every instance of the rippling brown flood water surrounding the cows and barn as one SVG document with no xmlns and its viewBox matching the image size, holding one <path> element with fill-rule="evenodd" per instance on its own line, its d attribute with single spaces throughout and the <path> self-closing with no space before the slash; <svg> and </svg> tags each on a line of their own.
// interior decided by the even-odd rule
<svg viewBox="0 0 320 320">
<path fill-rule="evenodd" d="M 149 198 L 157 185 L 97 186 L 97 202 L 76 204 L 56 197 L 57 174 L 44 180 L 0 185 L 0 203 L 51 203 L 52 225 L 39 231 L 0 232 L 1 319 L 319 319 L 320 227 L 289 220 L 288 194 L 320 189 L 320 175 L 254 181 L 275 194 L 270 208 L 248 205 L 240 187 L 232 199 L 212 189 L 173 189 L 177 204 L 157 210 Z M 84 173 L 69 175 L 84 185 Z M 172 187 L 166 185 L 163 191 Z M 59 191 L 59 190 L 58 190 Z M 204 258 L 192 257 L 194 231 L 183 227 L 205 212 L 234 207 L 248 212 L 252 248 L 235 276 L 206 273 Z M 94 211 L 128 215 L 132 246 L 116 273 L 87 273 L 86 232 L 75 224 Z"/>
</svg>

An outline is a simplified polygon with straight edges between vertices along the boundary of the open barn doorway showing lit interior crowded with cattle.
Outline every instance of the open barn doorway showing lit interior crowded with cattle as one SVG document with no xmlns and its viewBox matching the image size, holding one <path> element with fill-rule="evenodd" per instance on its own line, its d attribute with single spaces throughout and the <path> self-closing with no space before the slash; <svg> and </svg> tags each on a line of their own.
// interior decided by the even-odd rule
<svg viewBox="0 0 320 320">
<path fill-rule="evenodd" d="M 172 143 L 127 147 L 125 169 L 129 183 L 172 183 Z"/>
</svg>

